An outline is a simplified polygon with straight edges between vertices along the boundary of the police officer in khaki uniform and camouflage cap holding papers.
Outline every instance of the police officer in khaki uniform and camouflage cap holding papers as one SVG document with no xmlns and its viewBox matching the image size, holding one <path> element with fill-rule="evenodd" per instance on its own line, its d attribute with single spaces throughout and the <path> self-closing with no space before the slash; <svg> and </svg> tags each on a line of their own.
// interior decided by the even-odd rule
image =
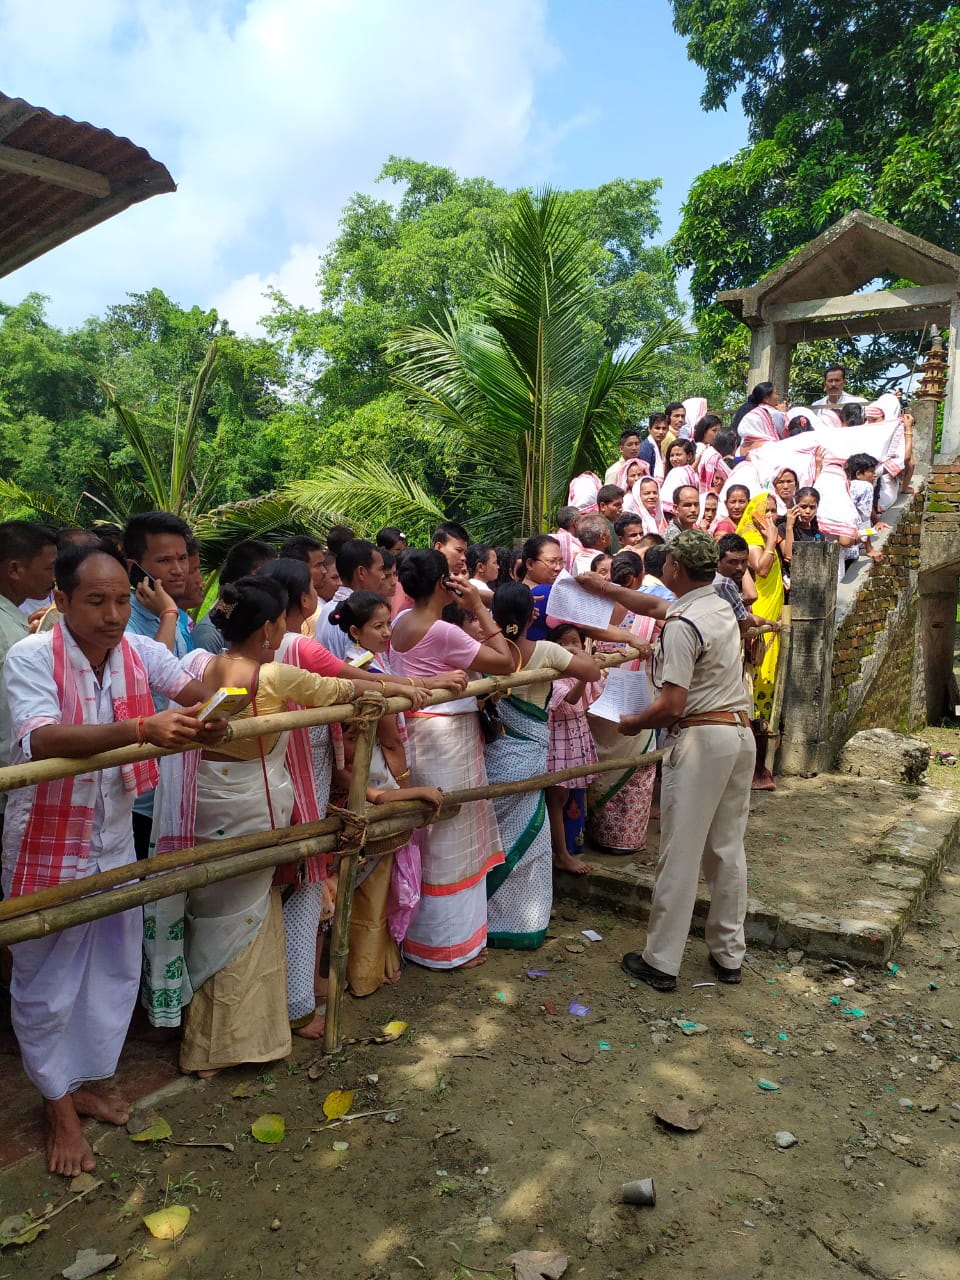
<svg viewBox="0 0 960 1280">
<path fill-rule="evenodd" d="M 710 890 L 707 946 L 726 983 L 741 980 L 745 951 L 746 856 L 755 746 L 740 663 L 733 611 L 713 590 L 717 544 L 687 530 L 671 543 L 663 582 L 677 596 L 667 608 L 654 655 L 657 696 L 640 716 L 625 716 L 621 733 L 667 728 L 660 791 L 660 856 L 646 946 L 622 968 L 657 991 L 673 991 L 703 867 Z M 607 594 L 641 608 L 639 593 Z M 646 612 L 646 611 L 644 611 Z"/>
</svg>

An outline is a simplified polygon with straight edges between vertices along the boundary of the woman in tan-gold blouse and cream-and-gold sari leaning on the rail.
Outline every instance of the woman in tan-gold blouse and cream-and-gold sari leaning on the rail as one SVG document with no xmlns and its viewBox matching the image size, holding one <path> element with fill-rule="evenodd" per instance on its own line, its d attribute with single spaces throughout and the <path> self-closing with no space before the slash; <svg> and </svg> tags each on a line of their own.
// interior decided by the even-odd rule
<svg viewBox="0 0 960 1280">
<path fill-rule="evenodd" d="M 234 719 L 301 707 L 352 703 L 352 680 L 275 662 L 287 626 L 287 591 L 262 576 L 224 585 L 210 617 L 227 641 L 221 654 L 195 653 L 205 684 L 250 690 Z M 312 774 L 287 765 L 287 733 L 191 753 L 180 799 L 183 844 L 287 827 L 294 804 L 316 804 Z M 196 759 L 196 755 L 200 759 Z M 291 1051 L 287 956 L 280 891 L 273 868 L 191 890 L 184 946 L 193 998 L 184 1019 L 180 1069 L 201 1076 L 239 1062 L 270 1062 Z"/>
</svg>

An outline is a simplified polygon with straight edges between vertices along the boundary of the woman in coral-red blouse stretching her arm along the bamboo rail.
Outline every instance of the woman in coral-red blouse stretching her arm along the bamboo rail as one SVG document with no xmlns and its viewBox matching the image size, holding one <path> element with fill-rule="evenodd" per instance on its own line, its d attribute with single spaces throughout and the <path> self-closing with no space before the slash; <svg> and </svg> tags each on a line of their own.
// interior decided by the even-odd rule
<svg viewBox="0 0 960 1280">
<path fill-rule="evenodd" d="M 380 672 L 351 667 L 317 640 L 302 634 L 305 620 L 314 616 L 317 605 L 310 567 L 303 561 L 285 558 L 271 561 L 261 568 L 260 577 L 271 579 L 287 593 L 285 634 L 276 650 L 276 662 L 289 663 L 317 676 L 352 680 L 361 691 L 376 689 L 387 698 L 410 698 L 415 707 L 424 704 L 428 696 L 426 686 L 411 689 L 410 681 L 390 681 Z M 465 676 L 461 678 L 466 681 Z M 445 684 L 443 687 L 457 687 L 457 685 Z M 300 710 L 301 704 L 288 703 L 288 709 Z M 292 777 L 306 780 L 312 776 L 314 781 L 312 788 L 303 786 L 297 790 L 293 806 L 296 823 L 319 822 L 326 813 L 339 732 L 339 724 L 314 724 L 310 728 L 293 730 L 288 736 L 287 767 Z M 316 1012 L 315 975 L 317 931 L 324 915 L 324 881 L 329 870 L 328 859 L 316 856 L 307 858 L 302 863 L 287 863 L 278 867 L 274 874 L 274 884 L 284 887 L 288 1014 L 294 1033 L 306 1039 L 316 1039 L 324 1032 L 324 1016 Z M 335 883 L 335 874 L 334 868 L 332 883 Z M 330 886 L 326 886 L 326 900 L 332 904 L 333 893 L 329 888 Z"/>
</svg>

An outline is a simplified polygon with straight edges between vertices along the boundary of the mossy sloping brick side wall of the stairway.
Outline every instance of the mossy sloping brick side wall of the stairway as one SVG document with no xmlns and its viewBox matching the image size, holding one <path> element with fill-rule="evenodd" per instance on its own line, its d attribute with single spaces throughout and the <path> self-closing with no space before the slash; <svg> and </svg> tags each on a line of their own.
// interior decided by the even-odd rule
<svg viewBox="0 0 960 1280">
<path fill-rule="evenodd" d="M 960 520 L 960 471 L 942 471 L 937 477 L 941 502 L 955 500 L 956 507 L 948 509 L 951 518 Z M 837 628 L 831 673 L 831 740 L 836 750 L 856 730 L 884 726 L 902 731 L 920 718 L 916 581 L 923 508 L 924 495 L 915 494 L 883 547 L 883 563 L 870 566 Z"/>
</svg>

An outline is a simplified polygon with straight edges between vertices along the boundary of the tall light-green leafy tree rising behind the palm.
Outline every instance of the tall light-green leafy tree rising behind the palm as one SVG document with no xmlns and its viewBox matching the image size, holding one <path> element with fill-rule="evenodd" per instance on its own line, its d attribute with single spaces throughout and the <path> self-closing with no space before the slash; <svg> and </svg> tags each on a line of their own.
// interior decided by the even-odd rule
<svg viewBox="0 0 960 1280">
<path fill-rule="evenodd" d="M 511 195 L 485 178 L 392 156 L 378 180 L 402 187 L 402 195 L 397 202 L 366 195 L 349 201 L 320 260 L 320 308 L 292 307 L 276 293 L 265 321 L 301 362 L 305 393 L 330 413 L 388 390 L 393 333 L 477 297 L 511 216 Z M 584 320 L 609 349 L 643 340 L 681 310 L 669 259 L 652 244 L 659 186 L 617 179 L 570 193 L 570 218 L 588 241 L 596 284 Z"/>
</svg>

